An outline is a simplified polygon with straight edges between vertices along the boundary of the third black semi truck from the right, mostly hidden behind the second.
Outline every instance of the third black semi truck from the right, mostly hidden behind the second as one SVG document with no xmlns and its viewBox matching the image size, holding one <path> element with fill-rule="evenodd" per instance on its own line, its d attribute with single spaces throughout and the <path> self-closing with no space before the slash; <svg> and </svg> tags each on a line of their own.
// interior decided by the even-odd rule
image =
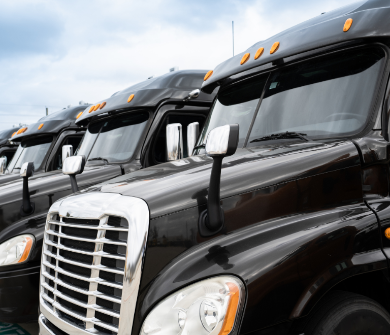
<svg viewBox="0 0 390 335">
<path fill-rule="evenodd" d="M 76 150 L 85 133 L 85 128 L 75 121 L 87 106 L 59 110 L 11 133 L 9 142 L 19 146 L 8 161 L 5 174 L 0 175 L 0 185 L 20 180 L 20 168 L 28 161 L 34 162 L 35 175 L 61 170 L 62 147 L 71 145 Z"/>
</svg>

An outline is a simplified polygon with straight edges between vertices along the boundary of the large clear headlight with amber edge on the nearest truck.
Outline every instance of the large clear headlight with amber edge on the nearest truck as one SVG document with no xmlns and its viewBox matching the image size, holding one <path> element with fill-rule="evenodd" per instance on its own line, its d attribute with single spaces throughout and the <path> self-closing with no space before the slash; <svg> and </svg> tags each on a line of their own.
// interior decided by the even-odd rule
<svg viewBox="0 0 390 335">
<path fill-rule="evenodd" d="M 244 285 L 236 277 L 202 280 L 161 301 L 146 317 L 141 335 L 228 335 L 244 303 Z"/>
</svg>

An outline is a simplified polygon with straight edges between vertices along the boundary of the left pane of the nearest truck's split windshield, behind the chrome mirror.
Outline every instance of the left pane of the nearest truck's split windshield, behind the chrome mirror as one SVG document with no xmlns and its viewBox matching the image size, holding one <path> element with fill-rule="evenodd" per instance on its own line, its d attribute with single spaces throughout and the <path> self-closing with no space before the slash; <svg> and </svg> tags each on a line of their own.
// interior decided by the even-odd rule
<svg viewBox="0 0 390 335">
<path fill-rule="evenodd" d="M 268 74 L 221 91 L 198 143 L 204 144 L 206 142 L 210 130 L 225 124 L 238 123 L 240 125 L 238 147 L 242 147 L 267 78 Z"/>
</svg>

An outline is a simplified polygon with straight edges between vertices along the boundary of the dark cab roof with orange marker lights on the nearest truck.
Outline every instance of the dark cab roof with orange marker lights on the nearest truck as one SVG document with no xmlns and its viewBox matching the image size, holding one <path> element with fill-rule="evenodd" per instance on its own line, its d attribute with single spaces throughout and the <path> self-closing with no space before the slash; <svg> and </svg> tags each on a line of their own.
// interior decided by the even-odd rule
<svg viewBox="0 0 390 335">
<path fill-rule="evenodd" d="M 349 30 L 344 31 L 347 19 L 352 19 Z M 308 21 L 286 29 L 277 35 L 258 42 L 246 51 L 225 60 L 216 66 L 212 75 L 203 83 L 202 91 L 212 92 L 223 79 L 256 68 L 276 60 L 329 45 L 372 37 L 390 37 L 390 0 L 368 0 L 356 2 L 334 11 L 316 16 Z M 271 54 L 275 42 L 278 49 Z M 259 48 L 263 54 L 254 59 Z M 240 64 L 244 54 L 249 59 Z"/>
</svg>

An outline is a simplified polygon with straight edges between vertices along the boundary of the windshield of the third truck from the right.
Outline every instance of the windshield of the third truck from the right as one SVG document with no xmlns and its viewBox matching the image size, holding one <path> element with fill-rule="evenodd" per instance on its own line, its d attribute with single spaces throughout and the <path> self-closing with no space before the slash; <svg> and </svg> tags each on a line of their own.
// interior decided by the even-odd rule
<svg viewBox="0 0 390 335">
<path fill-rule="evenodd" d="M 8 171 L 17 173 L 15 170 L 20 169 L 25 162 L 34 162 L 35 170 L 38 170 L 52 142 L 52 136 L 22 141 L 8 165 Z"/>
</svg>

